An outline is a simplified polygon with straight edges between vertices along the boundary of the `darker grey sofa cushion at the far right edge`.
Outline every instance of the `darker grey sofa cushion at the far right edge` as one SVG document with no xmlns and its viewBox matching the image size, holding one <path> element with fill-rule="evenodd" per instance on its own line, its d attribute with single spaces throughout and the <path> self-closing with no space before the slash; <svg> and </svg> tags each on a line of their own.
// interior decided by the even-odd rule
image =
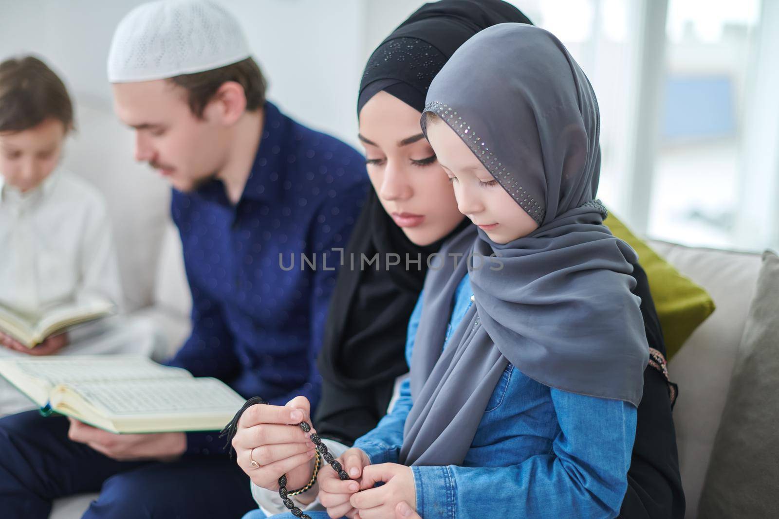
<svg viewBox="0 0 779 519">
<path fill-rule="evenodd" d="M 779 510 L 779 256 L 763 254 L 728 401 L 700 499 L 700 517 L 772 517 Z"/>
</svg>

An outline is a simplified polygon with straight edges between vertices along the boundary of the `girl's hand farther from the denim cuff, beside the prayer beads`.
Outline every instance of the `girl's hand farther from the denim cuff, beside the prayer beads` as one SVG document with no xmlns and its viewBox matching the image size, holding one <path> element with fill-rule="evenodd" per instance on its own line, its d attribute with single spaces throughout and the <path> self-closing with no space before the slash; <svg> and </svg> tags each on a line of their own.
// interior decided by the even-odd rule
<svg viewBox="0 0 779 519">
<path fill-rule="evenodd" d="M 352 494 L 360 489 L 359 479 L 371 461 L 368 454 L 358 448 L 351 448 L 338 458 L 344 470 L 358 481 L 341 481 L 337 473 L 329 465 L 319 471 L 319 503 L 327 509 L 330 517 L 354 517 L 357 510 L 349 503 Z"/>
</svg>

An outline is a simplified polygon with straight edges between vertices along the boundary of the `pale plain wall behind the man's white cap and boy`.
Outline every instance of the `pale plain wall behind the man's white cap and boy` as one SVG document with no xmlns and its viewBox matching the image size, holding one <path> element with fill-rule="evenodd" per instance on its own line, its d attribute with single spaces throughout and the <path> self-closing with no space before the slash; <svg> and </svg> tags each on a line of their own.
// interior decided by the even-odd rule
<svg viewBox="0 0 779 519">
<path fill-rule="evenodd" d="M 0 58 L 41 54 L 79 103 L 111 110 L 105 63 L 122 16 L 142 0 L 0 0 Z M 354 115 L 364 64 L 360 0 L 220 0 L 243 26 L 270 82 L 268 96 L 293 117 L 356 144 Z"/>
</svg>

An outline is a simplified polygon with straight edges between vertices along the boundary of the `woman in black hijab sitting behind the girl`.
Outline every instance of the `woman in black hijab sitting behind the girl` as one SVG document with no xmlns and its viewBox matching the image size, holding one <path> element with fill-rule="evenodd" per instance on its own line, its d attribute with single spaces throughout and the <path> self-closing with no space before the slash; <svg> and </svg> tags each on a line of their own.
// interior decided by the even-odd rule
<svg viewBox="0 0 779 519">
<path fill-rule="evenodd" d="M 406 144 L 403 141 L 421 138 L 418 121 L 428 86 L 451 54 L 478 31 L 505 22 L 530 20 L 499 0 L 443 0 L 426 4 L 377 47 L 365 67 L 358 117 L 375 191 L 368 196 L 344 251 L 344 266 L 331 300 L 319 356 L 322 398 L 312 420 L 333 454 L 339 455 L 351 446 L 386 414 L 396 380 L 408 370 L 404 359 L 407 323 L 425 278 L 426 259 L 468 224 L 452 205 L 453 194 L 449 194 L 449 201 L 446 197 L 437 198 L 436 185 L 420 184 L 425 182 L 420 180 L 422 176 L 438 177 L 449 187 L 425 139 Z M 411 126 L 400 124 L 406 117 Z M 397 212 L 397 207 L 407 211 L 407 205 L 402 203 L 414 198 L 407 192 L 409 185 L 421 191 L 416 193 L 417 198 L 426 195 L 421 199 L 425 209 L 417 209 L 425 213 L 421 215 L 426 220 L 424 225 L 415 225 L 414 216 L 420 216 L 417 214 L 390 215 Z M 404 189 L 406 192 L 400 192 Z M 429 214 L 433 209 L 437 212 Z M 431 220 L 435 222 L 428 225 Z M 378 270 L 375 263 L 360 268 L 361 258 L 369 261 L 375 254 L 379 258 Z M 397 254 L 399 259 L 386 261 L 387 254 Z M 394 261 L 398 261 L 397 265 L 392 265 Z M 648 342 L 664 352 L 646 275 L 639 265 L 633 276 L 637 281 L 634 293 L 642 299 Z M 647 368 L 644 384 L 622 517 L 682 517 L 684 500 L 667 384 L 654 368 Z M 288 405 L 308 411 L 308 402 L 298 402 L 297 398 Z M 291 436 L 299 433 L 296 427 L 290 430 Z M 342 444 L 340 449 L 335 442 Z M 262 469 L 245 469 L 253 481 L 259 482 L 255 476 Z M 308 482 L 312 468 L 305 464 L 299 472 L 299 479 Z M 291 478 L 293 473 L 287 472 L 287 477 Z M 268 484 L 261 486 L 266 486 L 267 492 L 254 488 L 257 500 L 268 511 L 283 510 L 273 491 L 278 477 L 275 473 L 263 476 Z M 288 488 L 298 486 L 291 481 Z M 298 506 L 303 507 L 310 499 L 303 497 Z"/>
</svg>

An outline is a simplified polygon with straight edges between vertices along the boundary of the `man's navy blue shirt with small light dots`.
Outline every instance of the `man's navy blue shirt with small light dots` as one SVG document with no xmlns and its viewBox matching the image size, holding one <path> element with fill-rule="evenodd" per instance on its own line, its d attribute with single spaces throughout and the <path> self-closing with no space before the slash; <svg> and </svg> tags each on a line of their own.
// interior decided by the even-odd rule
<svg viewBox="0 0 779 519">
<path fill-rule="evenodd" d="M 237 205 L 221 181 L 173 192 L 192 335 L 168 364 L 224 380 L 246 398 L 284 405 L 305 395 L 315 406 L 321 377 L 314 360 L 341 258 L 333 249 L 346 246 L 368 186 L 358 152 L 266 103 Z M 210 435 L 188 440 L 190 453 L 218 450 Z"/>
</svg>

